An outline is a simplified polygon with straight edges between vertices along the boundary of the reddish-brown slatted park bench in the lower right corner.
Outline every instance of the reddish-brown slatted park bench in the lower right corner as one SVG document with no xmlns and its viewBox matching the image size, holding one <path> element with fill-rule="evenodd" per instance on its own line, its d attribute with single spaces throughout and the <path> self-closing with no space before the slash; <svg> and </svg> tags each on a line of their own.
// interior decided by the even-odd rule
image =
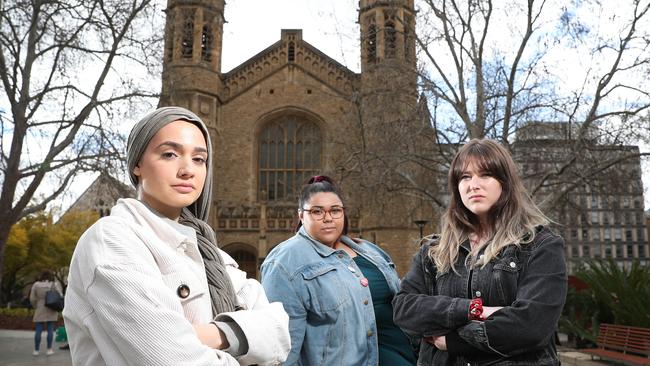
<svg viewBox="0 0 650 366">
<path fill-rule="evenodd" d="M 600 324 L 598 348 L 580 350 L 627 365 L 650 365 L 650 329 L 616 324 Z"/>
</svg>

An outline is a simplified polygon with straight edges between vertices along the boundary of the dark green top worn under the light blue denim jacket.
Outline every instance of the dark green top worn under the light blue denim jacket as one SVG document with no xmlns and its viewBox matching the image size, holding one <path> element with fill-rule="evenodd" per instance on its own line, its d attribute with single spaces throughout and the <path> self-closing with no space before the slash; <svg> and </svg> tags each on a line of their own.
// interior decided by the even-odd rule
<svg viewBox="0 0 650 366">
<path fill-rule="evenodd" d="M 395 323 L 393 323 L 393 294 L 384 275 L 369 260 L 358 255 L 354 261 L 368 279 L 370 296 L 377 320 L 380 366 L 415 365 L 416 358 L 411 344 Z"/>
</svg>

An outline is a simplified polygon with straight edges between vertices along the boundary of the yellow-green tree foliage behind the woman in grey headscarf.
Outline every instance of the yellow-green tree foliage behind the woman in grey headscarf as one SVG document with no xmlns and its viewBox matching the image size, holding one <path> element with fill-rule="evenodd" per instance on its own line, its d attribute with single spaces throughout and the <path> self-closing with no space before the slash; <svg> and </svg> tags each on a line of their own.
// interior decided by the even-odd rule
<svg viewBox="0 0 650 366">
<path fill-rule="evenodd" d="M 24 297 L 25 285 L 45 269 L 65 284 L 77 240 L 98 218 L 94 211 L 72 211 L 54 223 L 51 213 L 41 211 L 14 225 L 5 253 L 2 303 Z"/>
</svg>

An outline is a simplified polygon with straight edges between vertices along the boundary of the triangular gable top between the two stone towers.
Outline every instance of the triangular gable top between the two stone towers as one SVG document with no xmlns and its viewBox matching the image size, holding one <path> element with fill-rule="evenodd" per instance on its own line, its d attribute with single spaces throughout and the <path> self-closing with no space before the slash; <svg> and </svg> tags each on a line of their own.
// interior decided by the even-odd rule
<svg viewBox="0 0 650 366">
<path fill-rule="evenodd" d="M 223 74 L 223 100 L 236 97 L 289 65 L 341 94 L 351 94 L 359 83 L 359 74 L 305 42 L 301 29 L 283 29 L 279 41 Z"/>
</svg>

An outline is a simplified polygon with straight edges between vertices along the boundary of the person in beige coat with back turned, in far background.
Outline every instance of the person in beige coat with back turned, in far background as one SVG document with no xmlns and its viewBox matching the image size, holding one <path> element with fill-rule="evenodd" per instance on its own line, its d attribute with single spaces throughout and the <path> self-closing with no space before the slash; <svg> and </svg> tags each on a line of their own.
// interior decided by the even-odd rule
<svg viewBox="0 0 650 366">
<path fill-rule="evenodd" d="M 61 292 L 61 286 L 54 281 L 54 275 L 50 271 L 43 271 L 38 280 L 32 285 L 29 292 L 29 302 L 34 308 L 34 317 L 32 321 L 35 324 L 34 332 L 34 356 L 38 356 L 41 349 L 41 334 L 43 329 L 47 329 L 47 351 L 46 355 L 54 353 L 52 343 L 54 342 L 54 325 L 59 319 L 59 313 L 45 306 L 45 296 L 48 291 L 55 290 Z"/>
</svg>

